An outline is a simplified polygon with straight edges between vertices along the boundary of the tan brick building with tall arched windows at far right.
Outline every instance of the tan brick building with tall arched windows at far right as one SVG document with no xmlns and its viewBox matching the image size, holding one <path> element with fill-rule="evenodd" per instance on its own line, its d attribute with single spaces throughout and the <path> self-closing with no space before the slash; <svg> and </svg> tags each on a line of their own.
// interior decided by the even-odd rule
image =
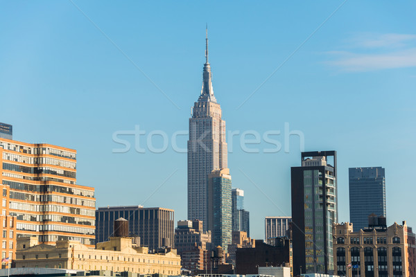
<svg viewBox="0 0 416 277">
<path fill-rule="evenodd" d="M 333 226 L 333 251 L 339 276 L 416 276 L 415 233 L 407 226 L 385 224 L 385 217 L 370 215 L 365 229 L 352 223 Z M 354 230 L 353 230 L 354 227 Z M 351 264 L 352 267 L 348 267 Z"/>
</svg>

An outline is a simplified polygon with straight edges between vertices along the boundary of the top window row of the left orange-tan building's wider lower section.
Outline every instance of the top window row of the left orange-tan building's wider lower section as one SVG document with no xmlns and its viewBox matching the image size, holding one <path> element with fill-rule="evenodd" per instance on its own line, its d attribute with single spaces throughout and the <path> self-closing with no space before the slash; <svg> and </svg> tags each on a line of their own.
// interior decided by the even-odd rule
<svg viewBox="0 0 416 277">
<path fill-rule="evenodd" d="M 69 188 L 67 186 L 56 186 L 56 185 L 33 185 L 24 184 L 15 181 L 3 180 L 3 185 L 10 186 L 15 190 L 27 190 L 36 193 L 67 193 L 69 195 L 79 195 L 85 197 L 94 197 L 94 191 L 92 190 L 81 190 L 79 188 Z"/>
</svg>

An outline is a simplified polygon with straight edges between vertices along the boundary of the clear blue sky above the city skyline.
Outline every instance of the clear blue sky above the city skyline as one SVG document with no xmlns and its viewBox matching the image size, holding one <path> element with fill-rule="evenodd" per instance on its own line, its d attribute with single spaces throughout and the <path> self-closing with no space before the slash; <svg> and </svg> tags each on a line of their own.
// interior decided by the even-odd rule
<svg viewBox="0 0 416 277">
<path fill-rule="evenodd" d="M 187 154 L 172 150 L 171 136 L 187 130 L 200 93 L 208 24 L 227 131 L 280 130 L 284 147 L 288 123 L 305 150 L 337 150 L 340 222 L 349 220 L 348 168 L 383 166 L 388 223 L 416 226 L 416 3 L 342 3 L 0 1 L 0 121 L 18 141 L 78 150 L 78 184 L 96 188 L 97 206 L 162 206 L 186 219 Z M 143 148 L 159 130 L 168 150 L 113 153 L 113 133 L 135 125 Z M 291 137 L 288 153 L 247 153 L 240 139 L 228 138 L 233 186 L 245 190 L 252 237 L 263 238 L 265 216 L 291 214 L 300 140 Z"/>
</svg>

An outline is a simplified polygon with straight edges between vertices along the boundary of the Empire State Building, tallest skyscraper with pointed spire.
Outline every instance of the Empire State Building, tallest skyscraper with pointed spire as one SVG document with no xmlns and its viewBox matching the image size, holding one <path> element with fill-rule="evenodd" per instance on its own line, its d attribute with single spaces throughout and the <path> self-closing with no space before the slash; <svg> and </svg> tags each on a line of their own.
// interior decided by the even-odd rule
<svg viewBox="0 0 416 277">
<path fill-rule="evenodd" d="M 188 220 L 202 220 L 207 229 L 207 181 L 212 170 L 227 168 L 225 121 L 212 88 L 208 62 L 208 33 L 202 89 L 189 118 L 188 141 Z"/>
</svg>

